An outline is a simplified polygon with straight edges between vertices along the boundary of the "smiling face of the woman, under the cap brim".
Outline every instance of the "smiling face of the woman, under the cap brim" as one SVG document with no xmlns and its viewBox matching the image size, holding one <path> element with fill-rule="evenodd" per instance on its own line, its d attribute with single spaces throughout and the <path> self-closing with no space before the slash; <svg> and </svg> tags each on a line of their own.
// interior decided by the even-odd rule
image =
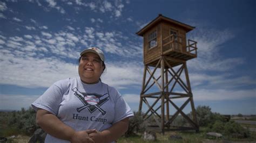
<svg viewBox="0 0 256 143">
<path fill-rule="evenodd" d="M 103 62 L 99 56 L 95 53 L 88 52 L 82 55 L 80 59 L 78 74 L 83 82 L 94 83 L 99 81 L 103 69 Z"/>
</svg>

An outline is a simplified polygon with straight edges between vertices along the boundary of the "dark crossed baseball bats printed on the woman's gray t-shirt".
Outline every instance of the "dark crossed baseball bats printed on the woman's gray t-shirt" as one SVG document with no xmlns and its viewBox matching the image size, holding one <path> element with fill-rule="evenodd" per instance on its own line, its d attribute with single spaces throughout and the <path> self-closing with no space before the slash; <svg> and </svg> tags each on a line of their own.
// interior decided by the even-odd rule
<svg viewBox="0 0 256 143">
<path fill-rule="evenodd" d="M 106 113 L 106 111 L 104 111 L 102 108 L 100 108 L 99 107 L 99 103 L 97 103 L 97 104 L 95 104 L 95 105 L 92 105 L 92 104 L 89 104 L 87 101 L 85 101 L 85 99 L 84 99 L 84 97 L 85 96 L 88 96 L 88 95 L 96 95 L 96 94 L 86 94 L 86 95 L 83 95 L 77 88 L 74 88 L 74 89 L 72 89 L 72 91 L 74 91 L 75 92 L 75 95 L 78 97 L 78 99 L 80 99 L 80 101 L 84 104 L 84 106 L 81 106 L 80 108 L 77 108 L 77 112 L 80 112 L 80 111 L 82 111 L 82 110 L 84 110 L 85 108 L 87 108 L 87 107 L 89 107 L 89 106 L 95 106 L 95 108 L 97 108 L 100 112 L 102 112 L 102 115 L 105 115 L 105 113 Z M 109 96 L 106 96 L 106 94 L 105 95 L 98 95 L 98 96 L 101 96 L 101 97 L 97 97 L 97 96 L 95 96 L 97 99 L 99 99 L 99 101 L 100 100 L 103 100 L 103 99 L 105 99 L 105 98 L 107 98 L 107 97 L 109 97 Z M 106 101 L 108 101 L 109 99 L 106 99 Z M 105 101 L 105 102 L 106 102 Z M 104 103 L 105 103 L 104 102 Z"/>
</svg>

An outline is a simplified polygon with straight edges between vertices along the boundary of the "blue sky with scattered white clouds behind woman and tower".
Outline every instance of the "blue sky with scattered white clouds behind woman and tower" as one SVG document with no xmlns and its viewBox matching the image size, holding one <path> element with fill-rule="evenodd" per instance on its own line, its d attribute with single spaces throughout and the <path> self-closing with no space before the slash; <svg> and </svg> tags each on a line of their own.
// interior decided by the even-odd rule
<svg viewBox="0 0 256 143">
<path fill-rule="evenodd" d="M 28 109 L 51 84 L 77 77 L 79 53 L 98 47 L 102 81 L 138 111 L 144 63 L 136 32 L 160 13 L 196 27 L 187 33 L 198 42 L 198 57 L 187 61 L 195 106 L 255 115 L 254 0 L 1 0 L 0 110 Z"/>
</svg>

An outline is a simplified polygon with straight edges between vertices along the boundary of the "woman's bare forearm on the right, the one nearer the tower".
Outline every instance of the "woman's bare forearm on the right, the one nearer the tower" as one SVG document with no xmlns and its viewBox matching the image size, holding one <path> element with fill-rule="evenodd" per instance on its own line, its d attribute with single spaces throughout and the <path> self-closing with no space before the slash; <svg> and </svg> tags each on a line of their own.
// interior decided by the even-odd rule
<svg viewBox="0 0 256 143">
<path fill-rule="evenodd" d="M 120 138 L 125 132 L 128 130 L 129 126 L 129 117 L 118 121 L 110 128 L 107 128 L 106 130 L 99 132 L 92 132 L 89 133 L 89 137 L 97 142 L 112 142 Z"/>
</svg>

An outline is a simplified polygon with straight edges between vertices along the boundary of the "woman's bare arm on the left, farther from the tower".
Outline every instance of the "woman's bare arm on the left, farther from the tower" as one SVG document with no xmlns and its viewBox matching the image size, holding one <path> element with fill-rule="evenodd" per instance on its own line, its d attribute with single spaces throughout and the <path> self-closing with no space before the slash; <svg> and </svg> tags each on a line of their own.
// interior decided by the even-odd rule
<svg viewBox="0 0 256 143">
<path fill-rule="evenodd" d="M 60 121 L 51 112 L 44 109 L 37 110 L 36 123 L 46 133 L 58 139 L 69 140 L 70 142 L 94 142 L 88 134 L 95 132 L 95 130 L 76 132 L 73 128 Z"/>
</svg>

